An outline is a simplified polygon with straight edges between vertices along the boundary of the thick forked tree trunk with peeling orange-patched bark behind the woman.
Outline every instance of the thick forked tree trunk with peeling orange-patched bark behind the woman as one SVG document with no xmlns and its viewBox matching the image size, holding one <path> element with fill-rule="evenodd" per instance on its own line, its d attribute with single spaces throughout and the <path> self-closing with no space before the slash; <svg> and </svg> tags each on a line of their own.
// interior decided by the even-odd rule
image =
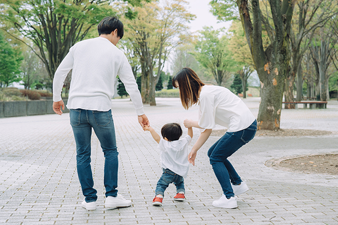
<svg viewBox="0 0 338 225">
<path fill-rule="evenodd" d="M 234 8 L 231 0 L 214 0 L 213 2 L 225 2 L 230 5 L 226 7 L 228 13 L 230 9 Z M 236 0 L 236 3 L 255 69 L 261 82 L 262 92 L 257 127 L 258 129 L 276 130 L 280 126 L 282 97 L 290 61 L 289 42 L 294 1 L 269 0 L 268 9 L 273 22 L 270 27 L 274 27 L 274 32 L 267 32 L 270 43 L 266 48 L 263 46 L 262 37 L 265 17 L 262 15 L 260 1 L 251 0 L 251 4 L 249 4 L 247 0 Z M 219 17 L 222 18 L 222 15 L 219 14 Z M 269 27 L 265 26 L 265 29 L 269 29 Z"/>
</svg>

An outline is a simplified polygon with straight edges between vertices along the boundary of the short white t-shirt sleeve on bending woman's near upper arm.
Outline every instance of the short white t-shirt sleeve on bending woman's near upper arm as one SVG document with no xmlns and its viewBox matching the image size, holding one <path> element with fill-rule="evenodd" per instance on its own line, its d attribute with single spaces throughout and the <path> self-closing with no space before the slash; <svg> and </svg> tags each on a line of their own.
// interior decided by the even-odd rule
<svg viewBox="0 0 338 225">
<path fill-rule="evenodd" d="M 200 96 L 198 125 L 204 129 L 212 129 L 216 126 L 214 95 L 211 93 Z"/>
</svg>

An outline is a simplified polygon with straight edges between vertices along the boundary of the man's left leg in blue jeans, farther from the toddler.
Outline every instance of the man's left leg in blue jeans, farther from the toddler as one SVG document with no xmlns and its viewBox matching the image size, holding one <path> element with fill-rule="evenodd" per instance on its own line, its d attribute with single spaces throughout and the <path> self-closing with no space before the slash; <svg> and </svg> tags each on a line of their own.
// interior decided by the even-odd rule
<svg viewBox="0 0 338 225">
<path fill-rule="evenodd" d="M 87 110 L 71 109 L 69 116 L 76 142 L 76 164 L 82 193 L 86 197 L 86 202 L 96 201 L 97 191 L 93 188 L 94 181 L 90 165 L 92 127 L 88 123 Z"/>
</svg>

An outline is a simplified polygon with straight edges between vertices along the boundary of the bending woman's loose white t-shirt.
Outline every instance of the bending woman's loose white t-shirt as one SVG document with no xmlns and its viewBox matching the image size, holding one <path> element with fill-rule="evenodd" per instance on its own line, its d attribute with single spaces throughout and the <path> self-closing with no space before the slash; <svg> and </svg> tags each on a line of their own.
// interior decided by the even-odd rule
<svg viewBox="0 0 338 225">
<path fill-rule="evenodd" d="M 235 132 L 245 129 L 256 119 L 245 103 L 228 88 L 204 85 L 199 95 L 198 125 L 204 129 L 219 124 Z"/>
</svg>

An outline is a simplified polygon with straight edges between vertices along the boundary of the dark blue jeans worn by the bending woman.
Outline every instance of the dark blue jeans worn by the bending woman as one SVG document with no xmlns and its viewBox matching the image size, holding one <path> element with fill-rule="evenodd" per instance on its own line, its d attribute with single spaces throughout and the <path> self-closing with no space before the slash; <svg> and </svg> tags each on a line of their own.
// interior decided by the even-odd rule
<svg viewBox="0 0 338 225">
<path fill-rule="evenodd" d="M 234 196 L 231 183 L 236 185 L 242 182 L 235 168 L 227 158 L 241 146 L 249 142 L 255 136 L 256 130 L 257 121 L 255 120 L 246 129 L 236 132 L 226 132 L 208 150 L 210 164 L 227 198 Z"/>
</svg>

